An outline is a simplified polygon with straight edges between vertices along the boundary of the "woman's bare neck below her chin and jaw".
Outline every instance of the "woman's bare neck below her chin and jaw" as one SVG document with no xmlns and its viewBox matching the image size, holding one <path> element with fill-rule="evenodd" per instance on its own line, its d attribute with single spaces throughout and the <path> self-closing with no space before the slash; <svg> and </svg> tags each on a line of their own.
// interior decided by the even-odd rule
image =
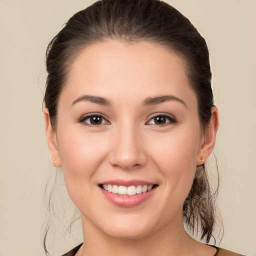
<svg viewBox="0 0 256 256">
<path fill-rule="evenodd" d="M 195 241 L 186 233 L 182 217 L 143 237 L 113 237 L 82 217 L 83 246 L 81 256 L 180 256 L 192 255 Z"/>
</svg>

